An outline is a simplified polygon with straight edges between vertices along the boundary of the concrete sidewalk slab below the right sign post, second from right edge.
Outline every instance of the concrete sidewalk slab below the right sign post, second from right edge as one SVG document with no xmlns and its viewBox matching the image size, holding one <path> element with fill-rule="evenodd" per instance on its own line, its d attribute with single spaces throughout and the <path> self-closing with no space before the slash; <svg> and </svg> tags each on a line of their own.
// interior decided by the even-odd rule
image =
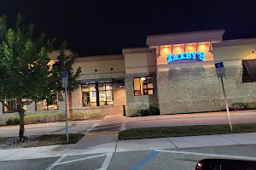
<svg viewBox="0 0 256 170">
<path fill-rule="evenodd" d="M 172 141 L 173 144 L 177 146 L 177 148 L 238 144 L 230 139 L 225 139 L 220 135 L 174 137 L 169 139 Z"/>
</svg>

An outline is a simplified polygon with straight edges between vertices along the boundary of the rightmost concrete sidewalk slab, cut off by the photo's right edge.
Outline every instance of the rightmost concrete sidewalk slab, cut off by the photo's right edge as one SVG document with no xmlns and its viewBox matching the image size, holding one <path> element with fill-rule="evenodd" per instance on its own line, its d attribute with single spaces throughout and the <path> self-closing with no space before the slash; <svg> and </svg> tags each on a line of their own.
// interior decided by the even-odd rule
<svg viewBox="0 0 256 170">
<path fill-rule="evenodd" d="M 221 134 L 239 144 L 256 144 L 256 133 Z"/>
</svg>

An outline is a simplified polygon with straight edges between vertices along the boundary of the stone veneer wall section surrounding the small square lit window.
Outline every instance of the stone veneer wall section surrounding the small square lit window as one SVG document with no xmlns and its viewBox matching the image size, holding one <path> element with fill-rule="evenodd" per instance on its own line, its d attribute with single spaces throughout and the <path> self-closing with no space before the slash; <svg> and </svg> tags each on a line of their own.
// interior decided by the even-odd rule
<svg viewBox="0 0 256 170">
<path fill-rule="evenodd" d="M 153 95 L 134 95 L 133 78 L 135 77 L 153 77 L 154 78 L 154 94 Z M 126 103 L 127 103 L 127 116 L 137 115 L 137 111 L 147 109 L 149 106 L 159 107 L 157 95 L 157 82 L 156 75 L 150 73 L 141 74 L 126 74 L 125 75 L 125 88 L 126 88 Z"/>
</svg>

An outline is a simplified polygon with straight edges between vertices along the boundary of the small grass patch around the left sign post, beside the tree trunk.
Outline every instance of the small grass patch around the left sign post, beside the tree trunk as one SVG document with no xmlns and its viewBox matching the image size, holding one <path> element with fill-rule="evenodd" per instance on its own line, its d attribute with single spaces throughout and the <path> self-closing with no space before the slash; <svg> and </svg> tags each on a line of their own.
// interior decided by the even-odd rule
<svg viewBox="0 0 256 170">
<path fill-rule="evenodd" d="M 84 137 L 82 133 L 69 133 L 68 142 L 66 134 L 44 134 L 36 137 L 36 142 L 32 144 L 23 145 L 24 148 L 38 147 L 38 146 L 48 146 L 56 144 L 76 144 L 79 139 Z"/>
</svg>

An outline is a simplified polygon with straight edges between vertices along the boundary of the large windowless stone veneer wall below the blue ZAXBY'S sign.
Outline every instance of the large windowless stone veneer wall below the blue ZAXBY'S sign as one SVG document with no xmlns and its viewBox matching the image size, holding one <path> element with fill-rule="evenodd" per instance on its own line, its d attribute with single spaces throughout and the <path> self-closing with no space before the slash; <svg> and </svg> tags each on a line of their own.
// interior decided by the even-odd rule
<svg viewBox="0 0 256 170">
<path fill-rule="evenodd" d="M 242 67 L 225 67 L 224 87 L 229 105 L 256 101 L 256 82 L 242 83 Z M 224 94 L 215 68 L 158 71 L 161 114 L 220 111 Z"/>
</svg>

